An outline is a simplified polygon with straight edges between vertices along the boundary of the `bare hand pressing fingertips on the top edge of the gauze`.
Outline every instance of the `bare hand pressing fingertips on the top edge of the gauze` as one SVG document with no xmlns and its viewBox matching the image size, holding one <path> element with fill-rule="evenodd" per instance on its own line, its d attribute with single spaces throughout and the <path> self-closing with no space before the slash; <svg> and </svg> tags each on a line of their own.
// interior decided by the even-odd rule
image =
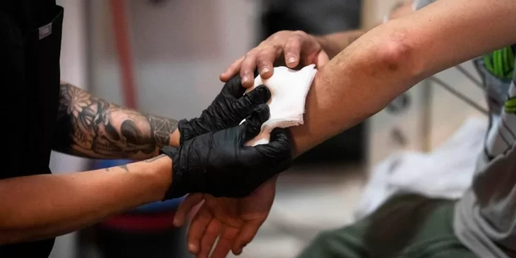
<svg viewBox="0 0 516 258">
<path fill-rule="evenodd" d="M 258 69 L 262 78 L 270 78 L 274 71 L 273 63 L 281 56 L 284 56 L 286 66 L 291 69 L 300 63 L 321 67 L 329 61 L 316 37 L 302 31 L 283 30 L 272 34 L 245 56 L 238 58 L 220 75 L 220 80 L 226 82 L 239 73 L 242 85 L 251 87 L 255 80 L 255 69 Z"/>
</svg>

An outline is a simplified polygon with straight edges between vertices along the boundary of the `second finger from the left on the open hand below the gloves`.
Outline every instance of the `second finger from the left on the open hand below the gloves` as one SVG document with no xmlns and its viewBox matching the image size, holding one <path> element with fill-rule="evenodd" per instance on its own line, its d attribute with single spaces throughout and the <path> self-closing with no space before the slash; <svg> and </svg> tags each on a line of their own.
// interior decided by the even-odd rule
<svg viewBox="0 0 516 258">
<path fill-rule="evenodd" d="M 208 212 L 206 205 L 201 206 L 193 217 L 188 230 L 188 250 L 192 254 L 197 254 L 200 251 L 200 241 L 211 219 L 213 219 L 213 215 Z"/>
</svg>

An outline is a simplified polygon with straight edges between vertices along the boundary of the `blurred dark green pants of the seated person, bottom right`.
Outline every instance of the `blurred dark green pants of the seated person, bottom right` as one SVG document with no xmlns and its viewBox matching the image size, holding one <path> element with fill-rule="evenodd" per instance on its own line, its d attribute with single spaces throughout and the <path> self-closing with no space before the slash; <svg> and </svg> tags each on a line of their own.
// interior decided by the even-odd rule
<svg viewBox="0 0 516 258">
<path fill-rule="evenodd" d="M 453 233 L 454 202 L 414 196 L 393 198 L 355 224 L 319 234 L 299 257 L 477 257 Z"/>
</svg>

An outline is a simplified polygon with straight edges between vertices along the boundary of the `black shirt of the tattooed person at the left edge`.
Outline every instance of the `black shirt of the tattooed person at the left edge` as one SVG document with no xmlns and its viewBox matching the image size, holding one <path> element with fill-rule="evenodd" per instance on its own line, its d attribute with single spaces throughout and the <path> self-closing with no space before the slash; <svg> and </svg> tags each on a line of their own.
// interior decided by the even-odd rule
<svg viewBox="0 0 516 258">
<path fill-rule="evenodd" d="M 63 8 L 55 0 L 0 3 L 3 151 L 0 179 L 51 173 Z M 0 246 L 0 257 L 48 257 L 54 238 Z"/>
</svg>

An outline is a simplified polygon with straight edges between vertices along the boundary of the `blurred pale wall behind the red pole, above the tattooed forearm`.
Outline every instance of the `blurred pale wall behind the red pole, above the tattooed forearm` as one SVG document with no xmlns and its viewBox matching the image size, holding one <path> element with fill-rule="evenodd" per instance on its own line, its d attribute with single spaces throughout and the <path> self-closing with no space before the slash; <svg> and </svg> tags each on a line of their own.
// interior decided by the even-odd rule
<svg viewBox="0 0 516 258">
<path fill-rule="evenodd" d="M 255 1 L 127 1 L 140 110 L 198 116 L 222 83 L 219 74 L 254 43 Z M 94 1 L 92 90 L 121 103 L 118 60 L 106 1 Z"/>
</svg>

